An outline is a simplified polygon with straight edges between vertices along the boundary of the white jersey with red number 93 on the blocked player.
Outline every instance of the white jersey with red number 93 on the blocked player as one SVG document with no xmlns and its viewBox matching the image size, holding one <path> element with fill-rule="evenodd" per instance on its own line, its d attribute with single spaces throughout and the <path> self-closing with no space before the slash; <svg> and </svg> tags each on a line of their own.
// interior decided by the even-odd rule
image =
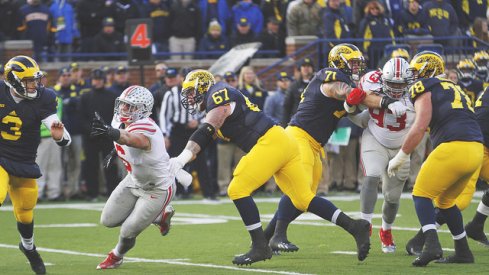
<svg viewBox="0 0 489 275">
<path fill-rule="evenodd" d="M 360 87 L 382 95 L 382 80 L 380 76 L 381 72 L 379 71 L 372 71 L 365 74 L 360 80 Z M 416 117 L 414 106 L 409 100 L 409 94 L 404 94 L 399 99 L 399 102 L 407 107 L 406 113 L 400 117 L 396 117 L 388 109 L 368 109 L 370 115 L 368 129 L 380 144 L 389 149 L 401 147 Z"/>
</svg>

